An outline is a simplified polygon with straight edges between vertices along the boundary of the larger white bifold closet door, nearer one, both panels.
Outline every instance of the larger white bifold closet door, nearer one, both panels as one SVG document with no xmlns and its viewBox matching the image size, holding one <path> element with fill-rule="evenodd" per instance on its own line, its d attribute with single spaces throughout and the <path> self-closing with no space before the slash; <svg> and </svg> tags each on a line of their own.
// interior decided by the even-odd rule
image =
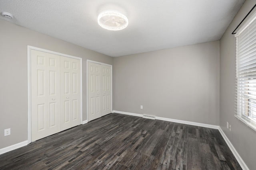
<svg viewBox="0 0 256 170">
<path fill-rule="evenodd" d="M 32 141 L 80 124 L 80 60 L 31 50 Z"/>
</svg>

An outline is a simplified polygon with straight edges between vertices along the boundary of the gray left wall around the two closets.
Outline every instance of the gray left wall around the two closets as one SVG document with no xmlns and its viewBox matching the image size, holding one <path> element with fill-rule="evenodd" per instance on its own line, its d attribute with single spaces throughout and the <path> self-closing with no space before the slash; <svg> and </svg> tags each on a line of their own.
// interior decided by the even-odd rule
<svg viewBox="0 0 256 170">
<path fill-rule="evenodd" d="M 86 59 L 113 64 L 113 58 L 4 20 L 0 25 L 0 149 L 28 140 L 27 45 L 83 59 L 83 120 L 87 120 Z M 4 137 L 7 128 L 11 135 Z"/>
</svg>

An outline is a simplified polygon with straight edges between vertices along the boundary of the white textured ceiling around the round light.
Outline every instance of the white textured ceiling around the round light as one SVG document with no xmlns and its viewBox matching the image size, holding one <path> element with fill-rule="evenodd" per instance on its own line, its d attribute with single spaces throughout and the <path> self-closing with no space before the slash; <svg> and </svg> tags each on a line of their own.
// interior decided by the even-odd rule
<svg viewBox="0 0 256 170">
<path fill-rule="evenodd" d="M 219 40 L 245 0 L 0 0 L 0 19 L 119 57 Z M 126 29 L 109 31 L 98 14 L 117 10 Z"/>
</svg>

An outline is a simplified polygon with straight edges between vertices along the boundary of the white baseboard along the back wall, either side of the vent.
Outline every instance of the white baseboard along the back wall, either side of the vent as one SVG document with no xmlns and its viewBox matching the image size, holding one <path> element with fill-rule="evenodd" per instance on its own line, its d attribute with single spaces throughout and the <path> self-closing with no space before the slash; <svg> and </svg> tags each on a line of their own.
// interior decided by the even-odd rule
<svg viewBox="0 0 256 170">
<path fill-rule="evenodd" d="M 132 116 L 138 116 L 138 117 L 142 117 L 142 114 L 138 114 L 138 113 L 129 113 L 129 112 L 124 112 L 124 111 L 116 111 L 113 110 L 112 113 L 120 113 L 120 114 L 124 114 L 124 115 L 132 115 Z M 177 120 L 177 119 L 169 119 L 169 118 L 165 118 L 165 117 L 158 117 L 156 116 L 157 120 L 164 120 L 164 121 L 170 121 L 170 122 L 175 122 L 175 123 L 183 123 L 186 125 L 194 125 L 194 126 L 200 126 L 200 127 L 208 127 L 208 128 L 212 128 L 212 129 L 219 129 L 219 126 L 217 125 L 209 125 L 209 124 L 204 124 L 204 123 L 196 123 L 196 122 L 192 122 L 192 121 L 184 121 L 184 120 Z"/>
</svg>

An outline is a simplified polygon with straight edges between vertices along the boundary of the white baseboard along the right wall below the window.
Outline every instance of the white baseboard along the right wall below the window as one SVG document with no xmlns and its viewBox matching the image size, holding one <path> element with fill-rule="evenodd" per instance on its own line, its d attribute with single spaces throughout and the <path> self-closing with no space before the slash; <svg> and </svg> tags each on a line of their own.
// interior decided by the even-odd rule
<svg viewBox="0 0 256 170">
<path fill-rule="evenodd" d="M 225 135 L 225 133 L 222 131 L 222 129 L 220 127 L 219 127 L 219 131 L 220 131 L 220 134 L 222 135 L 222 137 L 224 138 L 225 142 L 227 143 L 229 149 L 234 154 L 237 162 L 240 164 L 241 168 L 243 170 L 249 170 L 247 165 L 244 163 L 244 160 L 242 160 L 241 156 L 238 154 L 235 147 L 232 145 L 232 143 L 230 142 L 230 140 L 228 139 L 228 137 Z"/>
</svg>

